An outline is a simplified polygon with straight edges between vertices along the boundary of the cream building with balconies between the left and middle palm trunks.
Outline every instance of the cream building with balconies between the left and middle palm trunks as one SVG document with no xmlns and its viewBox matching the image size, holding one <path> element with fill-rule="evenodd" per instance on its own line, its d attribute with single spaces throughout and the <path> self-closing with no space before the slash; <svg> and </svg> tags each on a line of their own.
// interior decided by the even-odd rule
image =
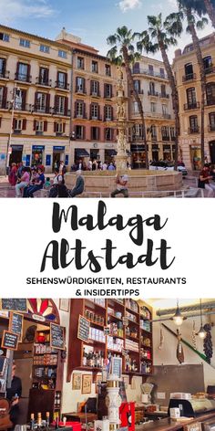
<svg viewBox="0 0 215 431">
<path fill-rule="evenodd" d="M 148 160 L 174 159 L 175 121 L 172 110 L 171 90 L 166 70 L 161 61 L 142 57 L 133 66 L 135 87 L 142 100 L 147 136 Z M 129 142 L 134 168 L 144 167 L 145 152 L 138 104 L 129 101 L 129 119 L 134 121 L 129 131 Z"/>
</svg>

